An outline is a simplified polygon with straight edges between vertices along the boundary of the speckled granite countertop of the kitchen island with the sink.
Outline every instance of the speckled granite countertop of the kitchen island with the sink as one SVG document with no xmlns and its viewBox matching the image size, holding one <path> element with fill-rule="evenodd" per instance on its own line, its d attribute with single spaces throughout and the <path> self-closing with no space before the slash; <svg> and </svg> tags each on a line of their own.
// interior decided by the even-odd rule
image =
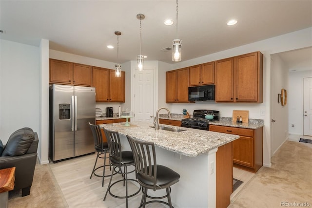
<svg viewBox="0 0 312 208">
<path fill-rule="evenodd" d="M 170 132 L 165 130 L 155 130 L 150 126 L 153 123 L 131 121 L 131 126 L 125 127 L 125 123 L 100 124 L 111 131 L 117 131 L 121 135 L 129 135 L 137 140 L 154 142 L 159 148 L 173 151 L 185 156 L 195 157 L 207 153 L 219 146 L 238 139 L 238 135 L 210 132 L 198 129 L 176 127 L 170 125 L 160 125 L 173 129 L 186 130 L 183 132 Z"/>
</svg>

